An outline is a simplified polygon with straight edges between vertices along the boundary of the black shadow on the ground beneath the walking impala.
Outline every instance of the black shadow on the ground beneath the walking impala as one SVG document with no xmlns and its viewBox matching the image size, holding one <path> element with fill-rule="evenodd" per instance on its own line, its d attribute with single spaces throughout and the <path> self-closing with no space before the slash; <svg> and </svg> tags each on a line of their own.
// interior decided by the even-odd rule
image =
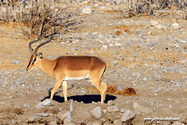
<svg viewBox="0 0 187 125">
<path fill-rule="evenodd" d="M 57 93 L 56 93 L 57 94 Z M 45 99 L 49 99 L 51 95 L 51 92 L 49 91 L 49 95 L 42 99 L 41 101 Z M 67 95 L 68 96 L 68 95 Z M 92 102 L 101 102 L 101 95 L 100 94 L 89 94 L 89 95 L 75 95 L 75 96 L 69 96 L 67 97 L 68 100 L 72 99 L 77 102 L 83 102 L 83 103 L 92 103 Z M 116 97 L 113 95 L 106 94 L 105 103 L 107 103 L 110 100 L 115 100 Z M 54 95 L 53 101 L 57 101 L 59 103 L 64 102 L 63 96 Z"/>
</svg>

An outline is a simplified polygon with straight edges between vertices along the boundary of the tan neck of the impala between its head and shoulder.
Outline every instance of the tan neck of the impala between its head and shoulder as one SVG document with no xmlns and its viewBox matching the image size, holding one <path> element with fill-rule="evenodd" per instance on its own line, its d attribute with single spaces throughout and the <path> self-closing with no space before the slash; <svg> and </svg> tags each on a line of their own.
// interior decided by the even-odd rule
<svg viewBox="0 0 187 125">
<path fill-rule="evenodd" d="M 54 77 L 53 76 L 53 69 L 56 65 L 55 61 L 49 61 L 47 59 L 41 59 L 40 65 L 38 66 L 38 68 L 40 68 L 44 73 L 46 73 L 47 75 Z"/>
</svg>

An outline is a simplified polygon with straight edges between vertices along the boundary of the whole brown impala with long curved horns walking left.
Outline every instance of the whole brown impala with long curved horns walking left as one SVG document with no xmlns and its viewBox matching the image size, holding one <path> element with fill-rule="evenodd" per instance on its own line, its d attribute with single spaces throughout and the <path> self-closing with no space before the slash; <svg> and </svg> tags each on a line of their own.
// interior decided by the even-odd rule
<svg viewBox="0 0 187 125">
<path fill-rule="evenodd" d="M 51 37 L 48 41 L 39 44 L 34 51 L 31 47 L 31 44 L 40 40 L 42 29 L 43 25 L 40 29 L 38 39 L 29 43 L 31 57 L 26 70 L 29 71 L 38 67 L 44 73 L 56 79 L 55 86 L 51 90 L 50 100 L 52 101 L 54 93 L 60 87 L 61 83 L 64 100 L 67 101 L 67 80 L 90 78 L 91 82 L 100 91 L 101 103 L 103 103 L 105 100 L 107 84 L 101 81 L 101 77 L 104 73 L 106 63 L 95 56 L 61 56 L 52 61 L 43 58 L 42 53 L 37 53 L 37 50 L 52 40 L 52 30 Z"/>
</svg>

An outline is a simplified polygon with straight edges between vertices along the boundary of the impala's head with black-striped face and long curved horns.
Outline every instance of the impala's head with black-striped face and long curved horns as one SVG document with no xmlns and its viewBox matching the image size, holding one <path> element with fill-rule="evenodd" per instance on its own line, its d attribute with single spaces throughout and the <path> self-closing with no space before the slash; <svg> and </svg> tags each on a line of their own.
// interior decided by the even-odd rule
<svg viewBox="0 0 187 125">
<path fill-rule="evenodd" d="M 32 70 L 32 69 L 34 69 L 34 68 L 37 68 L 37 67 L 40 65 L 40 62 L 41 62 L 41 59 L 43 59 L 43 56 L 42 56 L 42 53 L 38 53 L 38 54 L 37 54 L 37 51 L 38 51 L 38 49 L 39 49 L 41 46 L 43 46 L 43 45 L 46 44 L 46 43 L 49 43 L 49 42 L 52 40 L 52 35 L 53 35 L 53 33 L 52 33 L 52 29 L 51 29 L 51 37 L 50 37 L 50 39 L 49 39 L 48 41 L 46 41 L 46 42 L 43 42 L 43 43 L 39 44 L 39 45 L 36 47 L 36 49 L 33 51 L 32 47 L 31 47 L 31 44 L 33 44 L 33 43 L 35 43 L 35 42 L 37 42 L 37 41 L 40 40 L 42 29 L 43 29 L 43 25 L 42 25 L 42 27 L 41 27 L 41 29 L 40 29 L 39 37 L 38 37 L 36 40 L 31 41 L 31 42 L 29 43 L 29 50 L 30 50 L 30 53 L 31 53 L 31 57 L 30 57 L 29 64 L 28 64 L 28 66 L 27 66 L 27 68 L 26 68 L 26 71 L 30 71 L 30 70 Z"/>
</svg>

